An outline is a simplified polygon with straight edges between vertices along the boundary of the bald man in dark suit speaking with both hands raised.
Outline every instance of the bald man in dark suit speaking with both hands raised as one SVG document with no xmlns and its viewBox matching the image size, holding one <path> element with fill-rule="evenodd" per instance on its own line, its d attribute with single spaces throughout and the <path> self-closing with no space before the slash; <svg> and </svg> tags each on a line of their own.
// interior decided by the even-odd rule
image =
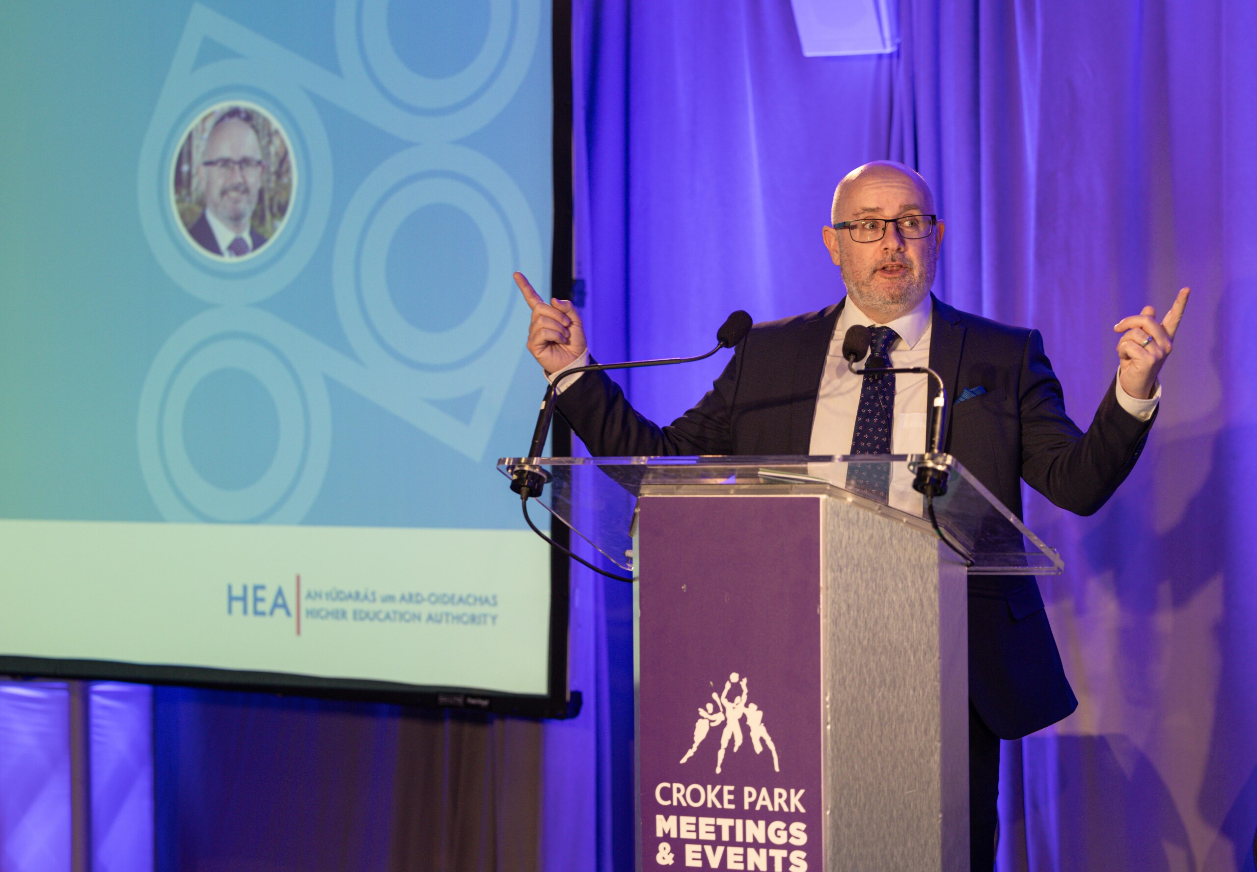
<svg viewBox="0 0 1257 872">
<path fill-rule="evenodd" d="M 931 386 L 923 376 L 855 376 L 846 328 L 872 328 L 870 359 L 928 364 L 953 402 L 944 450 L 1021 515 L 1021 480 L 1055 504 L 1092 514 L 1133 469 L 1156 415 L 1156 376 L 1188 289 L 1164 323 L 1151 307 L 1114 328 L 1119 372 L 1086 432 L 1065 412 L 1037 330 L 959 312 L 930 293 L 944 225 L 913 170 L 876 162 L 835 192 L 825 245 L 847 298 L 755 325 L 699 403 L 666 427 L 637 415 L 605 373 L 561 384 L 558 410 L 596 455 L 840 455 L 920 452 Z M 547 374 L 588 359 L 571 303 L 532 307 L 528 348 Z M 880 359 L 879 359 L 880 358 Z M 891 381 L 894 379 L 894 381 Z M 910 432 L 909 432 L 910 431 Z M 850 479 L 848 479 L 850 481 Z M 969 579 L 969 769 L 973 868 L 994 864 L 999 739 L 1018 739 L 1077 706 L 1035 579 Z"/>
</svg>

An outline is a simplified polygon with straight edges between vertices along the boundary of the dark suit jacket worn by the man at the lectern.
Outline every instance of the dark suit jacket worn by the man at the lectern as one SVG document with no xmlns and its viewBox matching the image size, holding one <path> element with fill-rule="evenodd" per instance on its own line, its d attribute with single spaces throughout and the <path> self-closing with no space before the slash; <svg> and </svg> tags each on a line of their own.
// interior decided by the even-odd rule
<svg viewBox="0 0 1257 872">
<path fill-rule="evenodd" d="M 706 396 L 666 427 L 637 415 L 602 372 L 571 383 L 558 410 L 600 456 L 806 455 L 841 308 L 757 324 Z M 945 450 L 1018 516 L 1022 479 L 1062 509 L 1099 510 L 1134 467 L 1151 427 L 1117 405 L 1110 384 L 1084 433 L 1065 413 L 1038 330 L 1006 327 L 938 299 L 930 367 L 953 403 Z M 963 390 L 978 386 L 985 393 L 955 403 Z M 1033 578 L 969 578 L 969 699 L 1003 739 L 1055 724 L 1077 707 Z"/>
</svg>

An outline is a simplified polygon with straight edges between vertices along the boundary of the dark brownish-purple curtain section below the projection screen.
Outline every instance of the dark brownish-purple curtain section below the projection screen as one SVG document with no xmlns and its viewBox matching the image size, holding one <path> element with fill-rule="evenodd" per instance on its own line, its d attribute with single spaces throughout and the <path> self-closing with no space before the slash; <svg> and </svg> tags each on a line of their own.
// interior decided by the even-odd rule
<svg viewBox="0 0 1257 872">
<path fill-rule="evenodd" d="M 539 866 L 537 721 L 156 687 L 153 733 L 160 872 Z"/>
</svg>

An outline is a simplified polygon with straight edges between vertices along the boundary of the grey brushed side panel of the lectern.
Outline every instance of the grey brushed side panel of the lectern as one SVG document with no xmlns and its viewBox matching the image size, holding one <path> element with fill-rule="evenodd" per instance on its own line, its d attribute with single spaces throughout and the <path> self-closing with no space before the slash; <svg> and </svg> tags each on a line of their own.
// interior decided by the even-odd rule
<svg viewBox="0 0 1257 872">
<path fill-rule="evenodd" d="M 969 868 L 964 567 L 931 535 L 826 499 L 828 869 Z"/>
</svg>

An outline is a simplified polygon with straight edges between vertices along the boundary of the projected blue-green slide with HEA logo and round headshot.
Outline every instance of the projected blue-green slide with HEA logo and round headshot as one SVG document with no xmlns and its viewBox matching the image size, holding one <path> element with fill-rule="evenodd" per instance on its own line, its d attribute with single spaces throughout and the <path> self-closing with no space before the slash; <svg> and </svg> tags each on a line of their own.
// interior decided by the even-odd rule
<svg viewBox="0 0 1257 872">
<path fill-rule="evenodd" d="M 548 1 L 14 3 L 0 45 L 0 672 L 548 694 L 494 466 Z"/>
</svg>

